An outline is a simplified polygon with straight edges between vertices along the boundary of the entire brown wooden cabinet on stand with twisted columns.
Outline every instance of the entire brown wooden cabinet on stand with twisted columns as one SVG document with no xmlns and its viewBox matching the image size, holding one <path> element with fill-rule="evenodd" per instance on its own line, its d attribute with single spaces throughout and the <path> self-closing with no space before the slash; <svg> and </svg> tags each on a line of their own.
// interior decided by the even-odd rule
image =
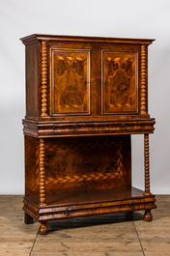
<svg viewBox="0 0 170 256">
<path fill-rule="evenodd" d="M 156 208 L 150 192 L 148 45 L 31 35 L 26 46 L 25 223 Z M 145 189 L 131 186 L 130 134 L 144 134 Z"/>
</svg>

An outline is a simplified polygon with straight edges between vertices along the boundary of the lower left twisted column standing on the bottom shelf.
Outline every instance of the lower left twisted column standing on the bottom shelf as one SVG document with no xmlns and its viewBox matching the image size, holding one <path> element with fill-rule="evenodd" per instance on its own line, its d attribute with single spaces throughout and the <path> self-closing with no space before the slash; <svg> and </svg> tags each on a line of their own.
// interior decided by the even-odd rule
<svg viewBox="0 0 170 256">
<path fill-rule="evenodd" d="M 40 139 L 39 153 L 40 206 L 45 205 L 44 140 Z"/>
</svg>

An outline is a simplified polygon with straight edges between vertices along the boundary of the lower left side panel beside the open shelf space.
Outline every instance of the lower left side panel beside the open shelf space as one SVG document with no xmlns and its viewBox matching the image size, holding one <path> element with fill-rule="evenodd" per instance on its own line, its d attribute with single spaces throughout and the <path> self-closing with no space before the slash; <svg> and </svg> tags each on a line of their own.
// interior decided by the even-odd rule
<svg viewBox="0 0 170 256">
<path fill-rule="evenodd" d="M 25 136 L 25 196 L 39 194 L 39 140 Z"/>
</svg>

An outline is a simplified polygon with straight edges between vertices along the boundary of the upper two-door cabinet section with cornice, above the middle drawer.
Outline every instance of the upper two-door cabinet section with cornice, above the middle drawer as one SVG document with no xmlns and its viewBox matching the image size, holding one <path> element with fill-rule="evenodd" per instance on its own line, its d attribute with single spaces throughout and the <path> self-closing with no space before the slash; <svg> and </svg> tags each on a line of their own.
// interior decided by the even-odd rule
<svg viewBox="0 0 170 256">
<path fill-rule="evenodd" d="M 147 61 L 153 40 L 32 35 L 21 41 L 26 45 L 26 119 L 150 118 Z"/>
</svg>

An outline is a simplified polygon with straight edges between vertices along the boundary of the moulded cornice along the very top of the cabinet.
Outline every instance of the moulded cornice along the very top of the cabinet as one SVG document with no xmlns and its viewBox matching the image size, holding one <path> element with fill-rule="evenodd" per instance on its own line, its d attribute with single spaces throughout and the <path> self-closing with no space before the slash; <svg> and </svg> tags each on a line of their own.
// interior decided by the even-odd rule
<svg viewBox="0 0 170 256">
<path fill-rule="evenodd" d="M 89 43 L 141 43 L 150 44 L 155 39 L 127 39 L 127 38 L 106 38 L 106 37 L 84 37 L 84 36 L 57 36 L 33 34 L 20 39 L 22 43 L 31 43 L 35 41 L 72 41 L 72 42 L 89 42 Z"/>
</svg>

